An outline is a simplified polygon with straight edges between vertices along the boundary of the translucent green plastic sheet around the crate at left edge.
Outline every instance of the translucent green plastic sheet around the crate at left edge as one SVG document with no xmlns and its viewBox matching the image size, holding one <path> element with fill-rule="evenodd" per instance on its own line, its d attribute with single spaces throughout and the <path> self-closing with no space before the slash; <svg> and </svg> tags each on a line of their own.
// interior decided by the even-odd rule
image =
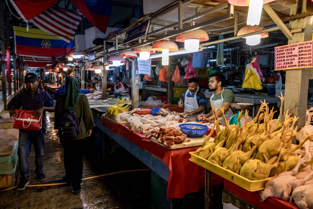
<svg viewBox="0 0 313 209">
<path fill-rule="evenodd" d="M 15 141 L 13 152 L 10 155 L 0 156 L 0 175 L 12 175 L 18 164 L 18 142 Z"/>
</svg>

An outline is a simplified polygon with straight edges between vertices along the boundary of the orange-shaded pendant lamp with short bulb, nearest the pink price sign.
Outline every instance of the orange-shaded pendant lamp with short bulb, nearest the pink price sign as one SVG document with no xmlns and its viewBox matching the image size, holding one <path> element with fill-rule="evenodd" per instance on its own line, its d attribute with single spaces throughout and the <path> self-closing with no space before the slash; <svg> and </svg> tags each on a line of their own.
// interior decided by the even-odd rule
<svg viewBox="0 0 313 209">
<path fill-rule="evenodd" d="M 255 46 L 258 45 L 261 42 L 261 38 L 266 38 L 269 37 L 269 33 L 262 33 L 262 30 L 264 30 L 265 28 L 262 26 L 258 26 L 258 27 L 254 27 L 254 26 L 245 26 L 242 29 L 240 29 L 238 31 L 238 35 L 244 35 L 247 33 L 252 33 L 252 32 L 256 32 L 256 31 L 260 31 L 259 34 L 256 35 L 250 35 L 247 37 L 244 37 L 244 39 L 246 39 L 246 44 L 248 44 L 249 46 Z"/>
</svg>

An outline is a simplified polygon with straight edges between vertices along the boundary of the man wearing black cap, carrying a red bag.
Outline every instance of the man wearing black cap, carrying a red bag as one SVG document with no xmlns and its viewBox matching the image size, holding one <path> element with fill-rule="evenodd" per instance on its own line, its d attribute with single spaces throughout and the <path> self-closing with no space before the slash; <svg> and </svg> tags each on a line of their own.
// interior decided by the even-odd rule
<svg viewBox="0 0 313 209">
<path fill-rule="evenodd" d="M 46 134 L 46 111 L 54 112 L 54 102 L 47 92 L 38 88 L 38 77 L 35 73 L 27 73 L 24 78 L 27 90 L 22 92 L 13 107 L 10 110 L 10 117 L 16 118 L 18 113 L 15 111 L 22 107 L 23 110 L 34 110 L 33 116 L 39 117 L 42 113 L 42 128 L 40 131 L 24 131 L 19 130 L 18 138 L 18 160 L 20 168 L 20 182 L 17 190 L 25 189 L 29 184 L 28 173 L 28 155 L 33 144 L 35 150 L 35 174 L 38 181 L 46 179 L 43 170 L 44 164 L 44 144 Z"/>
</svg>

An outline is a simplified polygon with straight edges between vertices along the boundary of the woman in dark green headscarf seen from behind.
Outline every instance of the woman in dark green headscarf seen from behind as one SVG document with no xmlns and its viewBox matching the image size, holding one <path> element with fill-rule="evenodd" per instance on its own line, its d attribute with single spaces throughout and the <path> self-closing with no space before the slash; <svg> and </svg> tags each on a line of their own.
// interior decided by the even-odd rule
<svg viewBox="0 0 313 209">
<path fill-rule="evenodd" d="M 75 138 L 62 138 L 60 142 L 64 148 L 65 173 L 63 180 L 72 183 L 73 194 L 80 193 L 80 183 L 83 174 L 82 148 L 86 137 L 91 135 L 95 127 L 87 96 L 80 93 L 80 86 L 76 78 L 69 78 L 65 84 L 66 92 L 60 95 L 55 104 L 54 129 L 59 129 L 61 116 L 64 112 L 76 113 L 77 124 L 82 119 L 80 133 Z"/>
</svg>

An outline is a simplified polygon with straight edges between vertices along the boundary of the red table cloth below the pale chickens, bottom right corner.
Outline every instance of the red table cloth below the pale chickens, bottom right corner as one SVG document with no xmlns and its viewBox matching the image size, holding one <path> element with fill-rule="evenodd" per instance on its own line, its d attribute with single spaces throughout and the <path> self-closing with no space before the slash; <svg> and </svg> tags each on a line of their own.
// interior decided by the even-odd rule
<svg viewBox="0 0 313 209">
<path fill-rule="evenodd" d="M 259 192 L 257 191 L 250 192 L 226 179 L 224 179 L 224 189 L 227 189 L 231 193 L 241 197 L 242 199 L 248 202 L 251 202 L 252 204 L 261 209 L 269 208 L 299 209 L 298 206 L 296 206 L 295 204 L 276 197 L 268 197 L 264 202 L 261 202 Z"/>
</svg>

